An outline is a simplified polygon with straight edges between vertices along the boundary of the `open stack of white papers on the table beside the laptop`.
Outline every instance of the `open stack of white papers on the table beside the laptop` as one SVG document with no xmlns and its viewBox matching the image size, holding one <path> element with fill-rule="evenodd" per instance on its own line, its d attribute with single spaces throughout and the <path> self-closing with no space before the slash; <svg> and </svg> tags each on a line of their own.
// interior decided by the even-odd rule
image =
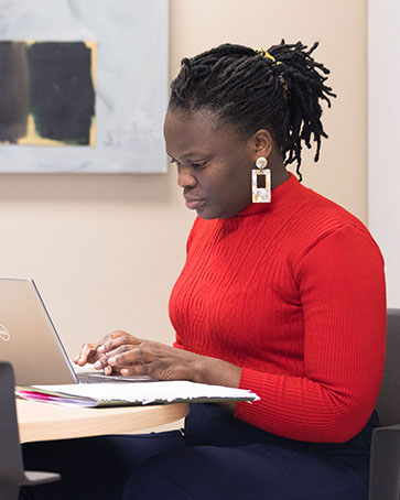
<svg viewBox="0 0 400 500">
<path fill-rule="evenodd" d="M 82 383 L 17 387 L 15 394 L 26 400 L 76 406 L 130 406 L 181 402 L 257 401 L 245 389 L 177 381 L 134 383 Z"/>
</svg>

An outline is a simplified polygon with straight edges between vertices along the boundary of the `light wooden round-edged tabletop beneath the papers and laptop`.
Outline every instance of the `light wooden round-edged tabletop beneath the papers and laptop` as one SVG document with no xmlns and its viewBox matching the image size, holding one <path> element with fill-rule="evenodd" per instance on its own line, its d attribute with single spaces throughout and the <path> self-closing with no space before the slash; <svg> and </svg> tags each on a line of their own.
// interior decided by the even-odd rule
<svg viewBox="0 0 400 500">
<path fill-rule="evenodd" d="M 17 400 L 21 443 L 138 432 L 183 419 L 188 404 L 69 407 Z"/>
</svg>

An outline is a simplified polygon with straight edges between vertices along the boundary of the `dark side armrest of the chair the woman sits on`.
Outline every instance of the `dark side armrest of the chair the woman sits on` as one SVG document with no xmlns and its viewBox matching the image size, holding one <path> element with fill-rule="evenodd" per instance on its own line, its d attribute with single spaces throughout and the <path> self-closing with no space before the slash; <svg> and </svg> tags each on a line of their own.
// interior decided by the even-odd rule
<svg viewBox="0 0 400 500">
<path fill-rule="evenodd" d="M 369 466 L 369 500 L 399 500 L 400 424 L 372 432 Z"/>
</svg>

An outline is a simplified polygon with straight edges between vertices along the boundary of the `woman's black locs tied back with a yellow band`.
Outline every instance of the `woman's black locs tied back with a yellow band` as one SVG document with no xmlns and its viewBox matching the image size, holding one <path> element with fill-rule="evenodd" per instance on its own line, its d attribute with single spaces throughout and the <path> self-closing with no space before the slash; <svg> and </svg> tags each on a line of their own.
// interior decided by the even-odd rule
<svg viewBox="0 0 400 500">
<path fill-rule="evenodd" d="M 312 57 L 317 45 L 307 50 L 301 42 L 287 44 L 282 40 L 266 52 L 224 44 L 184 58 L 171 84 L 169 107 L 209 109 L 218 123 L 234 124 L 247 137 L 268 129 L 284 165 L 296 162 L 301 181 L 302 142 L 311 148 L 313 138 L 317 162 L 321 139 L 327 138 L 321 122 L 321 100 L 331 107 L 329 97 L 336 97 L 325 85 L 329 70 Z"/>
</svg>

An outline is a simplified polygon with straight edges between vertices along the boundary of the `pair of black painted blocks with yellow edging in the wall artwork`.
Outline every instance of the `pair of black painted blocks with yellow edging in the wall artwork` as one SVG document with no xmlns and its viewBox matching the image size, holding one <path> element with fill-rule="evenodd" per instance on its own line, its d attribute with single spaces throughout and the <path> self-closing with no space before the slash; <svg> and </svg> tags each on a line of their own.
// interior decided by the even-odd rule
<svg viewBox="0 0 400 500">
<path fill-rule="evenodd" d="M 91 63 L 84 42 L 0 42 L 0 142 L 90 144 Z"/>
</svg>

